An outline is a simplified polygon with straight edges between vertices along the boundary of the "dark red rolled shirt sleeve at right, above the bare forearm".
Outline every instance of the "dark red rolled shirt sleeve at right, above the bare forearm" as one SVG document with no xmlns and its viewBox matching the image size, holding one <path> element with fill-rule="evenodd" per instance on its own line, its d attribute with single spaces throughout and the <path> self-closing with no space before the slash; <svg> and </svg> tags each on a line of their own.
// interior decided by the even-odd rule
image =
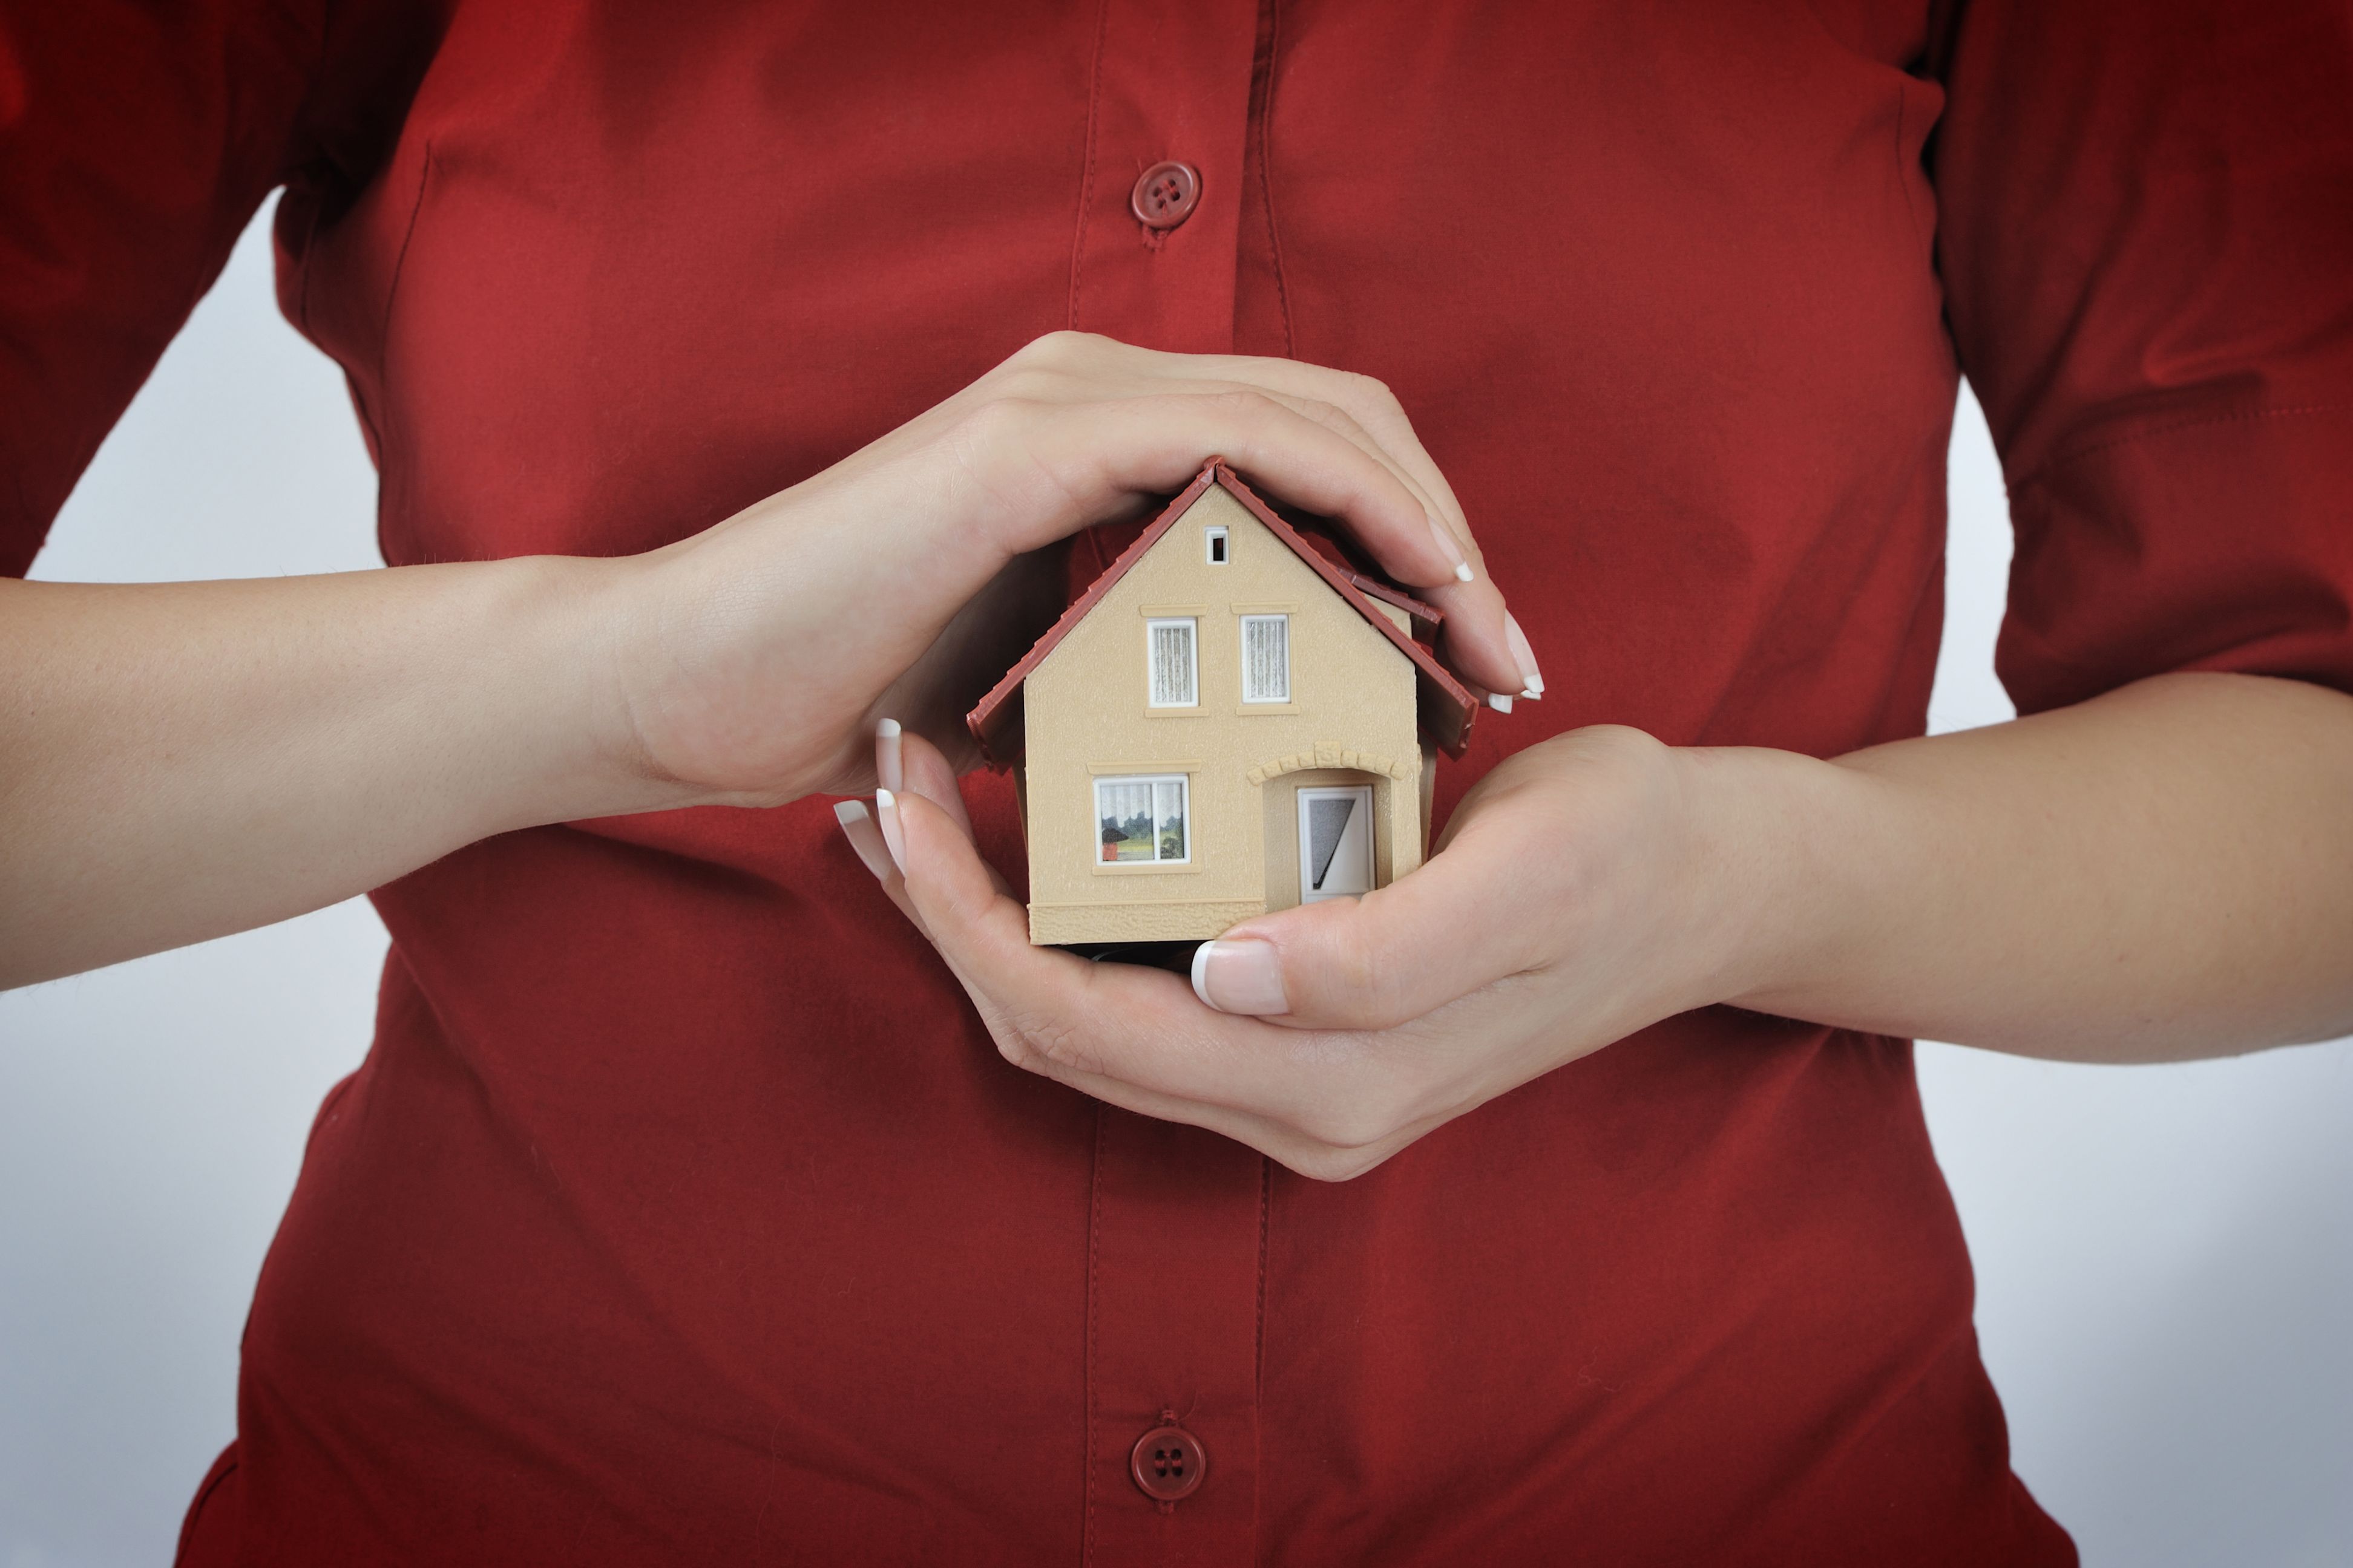
<svg viewBox="0 0 2353 1568">
<path fill-rule="evenodd" d="M 1965 0 L 1934 49 L 2019 710 L 2167 670 L 2353 689 L 2353 5 Z"/>
</svg>

